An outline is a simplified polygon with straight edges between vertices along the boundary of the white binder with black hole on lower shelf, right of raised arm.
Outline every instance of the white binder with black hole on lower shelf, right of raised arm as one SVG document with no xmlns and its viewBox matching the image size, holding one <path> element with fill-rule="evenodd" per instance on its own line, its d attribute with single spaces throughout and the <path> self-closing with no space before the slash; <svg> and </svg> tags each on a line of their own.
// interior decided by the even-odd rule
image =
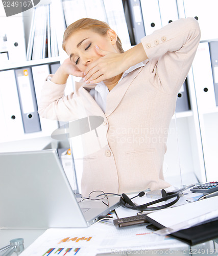
<svg viewBox="0 0 218 256">
<path fill-rule="evenodd" d="M 216 108 L 208 42 L 200 42 L 192 62 L 198 109 L 207 113 Z"/>
</svg>

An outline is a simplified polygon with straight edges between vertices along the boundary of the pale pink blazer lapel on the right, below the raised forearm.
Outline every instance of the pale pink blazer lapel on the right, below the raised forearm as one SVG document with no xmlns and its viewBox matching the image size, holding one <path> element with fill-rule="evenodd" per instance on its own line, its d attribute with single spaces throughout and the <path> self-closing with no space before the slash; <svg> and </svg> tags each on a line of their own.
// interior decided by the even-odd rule
<svg viewBox="0 0 218 256">
<path fill-rule="evenodd" d="M 123 99 L 126 91 L 128 90 L 130 84 L 135 79 L 135 77 L 140 73 L 142 67 L 136 69 L 124 77 L 107 95 L 107 106 L 105 115 L 108 117 L 116 109 L 119 102 Z"/>
</svg>

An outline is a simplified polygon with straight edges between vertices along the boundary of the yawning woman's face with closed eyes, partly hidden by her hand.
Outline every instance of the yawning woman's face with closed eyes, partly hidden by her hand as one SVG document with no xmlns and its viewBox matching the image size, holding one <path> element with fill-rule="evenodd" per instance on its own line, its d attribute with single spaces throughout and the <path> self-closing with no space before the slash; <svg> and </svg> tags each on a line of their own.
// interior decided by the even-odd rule
<svg viewBox="0 0 218 256">
<path fill-rule="evenodd" d="M 74 32 L 66 40 L 65 49 L 70 60 L 84 72 L 91 62 L 102 57 L 97 53 L 95 46 L 104 51 L 118 52 L 116 33 L 110 29 L 102 36 L 92 30 L 82 29 Z"/>
</svg>

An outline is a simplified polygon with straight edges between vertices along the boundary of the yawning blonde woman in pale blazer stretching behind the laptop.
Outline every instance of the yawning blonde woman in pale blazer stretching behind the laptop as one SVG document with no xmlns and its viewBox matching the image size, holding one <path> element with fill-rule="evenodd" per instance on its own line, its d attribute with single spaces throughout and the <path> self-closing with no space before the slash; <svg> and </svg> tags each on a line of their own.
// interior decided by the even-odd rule
<svg viewBox="0 0 218 256">
<path fill-rule="evenodd" d="M 167 130 L 199 41 L 193 18 L 156 30 L 126 52 L 98 20 L 84 18 L 66 29 L 69 58 L 45 81 L 39 114 L 62 121 L 102 117 L 94 131 L 72 138 L 82 147 L 74 148 L 75 162 L 83 164 L 82 194 L 169 186 L 162 173 Z M 64 96 L 69 74 L 83 79 Z"/>
</svg>

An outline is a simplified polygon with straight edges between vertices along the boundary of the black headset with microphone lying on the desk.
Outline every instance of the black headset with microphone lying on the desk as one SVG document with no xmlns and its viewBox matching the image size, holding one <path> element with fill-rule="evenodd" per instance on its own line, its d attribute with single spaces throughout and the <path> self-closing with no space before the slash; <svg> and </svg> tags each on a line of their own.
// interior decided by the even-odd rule
<svg viewBox="0 0 218 256">
<path fill-rule="evenodd" d="M 142 197 L 144 194 L 145 193 L 142 191 L 135 197 Z M 155 200 L 153 202 L 150 202 L 150 203 L 142 204 L 142 205 L 134 204 L 132 202 L 132 199 L 135 198 L 135 197 L 129 198 L 126 194 L 122 194 L 122 197 L 120 197 L 119 201 L 120 201 L 120 204 L 125 208 L 129 208 L 129 209 L 133 209 L 133 210 L 140 210 L 140 211 L 164 209 L 164 208 L 167 208 L 169 206 L 174 205 L 176 202 L 179 201 L 179 194 L 178 193 L 175 193 L 175 194 L 172 194 L 172 195 L 167 195 L 166 191 L 164 189 L 162 189 L 161 194 L 162 194 L 162 198 L 157 199 L 157 200 Z M 174 198 L 174 197 L 176 197 L 176 199 L 174 201 L 170 202 L 170 203 L 163 204 L 161 206 L 149 207 L 151 205 L 154 205 L 154 204 L 157 204 L 157 203 L 160 203 L 160 202 L 163 202 L 163 201 L 167 201 L 168 199 L 171 199 L 171 198 Z"/>
</svg>

